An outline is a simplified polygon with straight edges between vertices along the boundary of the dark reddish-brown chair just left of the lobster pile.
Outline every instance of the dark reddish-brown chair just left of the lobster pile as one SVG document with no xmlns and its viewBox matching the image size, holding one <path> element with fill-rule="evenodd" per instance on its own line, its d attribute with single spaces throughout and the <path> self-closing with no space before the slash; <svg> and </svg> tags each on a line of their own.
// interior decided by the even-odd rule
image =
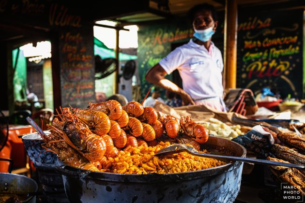
<svg viewBox="0 0 305 203">
<path fill-rule="evenodd" d="M 43 131 L 47 130 L 46 124 L 51 124 L 54 114 L 52 109 L 41 109 L 32 115 L 33 120 Z"/>
</svg>

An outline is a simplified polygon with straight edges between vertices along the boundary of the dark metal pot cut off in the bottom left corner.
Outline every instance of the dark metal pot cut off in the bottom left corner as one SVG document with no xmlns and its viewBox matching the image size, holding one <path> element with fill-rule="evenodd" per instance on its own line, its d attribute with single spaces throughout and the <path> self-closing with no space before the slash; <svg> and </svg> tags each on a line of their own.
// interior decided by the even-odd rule
<svg viewBox="0 0 305 203">
<path fill-rule="evenodd" d="M 25 203 L 35 203 L 37 190 L 38 185 L 31 178 L 18 174 L 0 173 L 0 202 L 10 197 L 18 198 Z"/>
</svg>

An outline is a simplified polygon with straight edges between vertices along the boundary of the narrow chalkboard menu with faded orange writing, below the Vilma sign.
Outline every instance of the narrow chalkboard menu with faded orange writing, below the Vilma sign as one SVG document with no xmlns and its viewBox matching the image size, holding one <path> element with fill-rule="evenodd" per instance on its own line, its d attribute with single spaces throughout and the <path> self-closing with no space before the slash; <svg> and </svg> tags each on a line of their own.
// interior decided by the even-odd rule
<svg viewBox="0 0 305 203">
<path fill-rule="evenodd" d="M 95 101 L 93 25 L 61 31 L 61 105 L 86 108 Z"/>
</svg>

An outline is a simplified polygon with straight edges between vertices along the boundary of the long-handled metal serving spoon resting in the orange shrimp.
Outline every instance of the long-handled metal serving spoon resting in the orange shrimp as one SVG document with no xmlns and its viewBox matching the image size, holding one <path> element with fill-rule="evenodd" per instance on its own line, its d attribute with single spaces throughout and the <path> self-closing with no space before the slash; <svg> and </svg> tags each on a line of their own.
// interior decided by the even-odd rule
<svg viewBox="0 0 305 203">
<path fill-rule="evenodd" d="M 284 163 L 284 162 L 271 161 L 271 160 L 257 160 L 257 159 L 251 159 L 251 158 L 243 158 L 243 157 L 232 157 L 232 156 L 199 153 L 192 146 L 185 145 L 185 144 L 169 145 L 167 147 L 162 148 L 157 153 L 155 153 L 155 156 L 160 156 L 160 155 L 165 155 L 165 154 L 176 154 L 179 152 L 188 152 L 188 153 L 198 156 L 198 157 L 213 158 L 213 159 L 217 159 L 217 160 L 236 160 L 236 161 L 242 161 L 242 162 L 248 162 L 248 163 L 258 163 L 258 164 L 263 164 L 263 165 L 286 166 L 286 167 L 300 168 L 300 169 L 305 168 L 302 165 L 293 164 L 293 163 Z"/>
</svg>

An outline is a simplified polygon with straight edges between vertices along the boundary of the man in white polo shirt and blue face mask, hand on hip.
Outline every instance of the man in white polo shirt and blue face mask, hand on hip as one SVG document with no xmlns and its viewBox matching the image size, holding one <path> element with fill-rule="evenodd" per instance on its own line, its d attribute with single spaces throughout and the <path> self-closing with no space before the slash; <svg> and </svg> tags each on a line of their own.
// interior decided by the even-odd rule
<svg viewBox="0 0 305 203">
<path fill-rule="evenodd" d="M 216 11 L 210 4 L 200 4 L 189 11 L 195 30 L 194 38 L 168 54 L 146 74 L 148 82 L 180 94 L 183 104 L 205 104 L 226 111 L 223 60 L 220 50 L 213 44 L 212 35 L 217 28 Z M 183 89 L 165 78 L 178 69 Z"/>
</svg>

